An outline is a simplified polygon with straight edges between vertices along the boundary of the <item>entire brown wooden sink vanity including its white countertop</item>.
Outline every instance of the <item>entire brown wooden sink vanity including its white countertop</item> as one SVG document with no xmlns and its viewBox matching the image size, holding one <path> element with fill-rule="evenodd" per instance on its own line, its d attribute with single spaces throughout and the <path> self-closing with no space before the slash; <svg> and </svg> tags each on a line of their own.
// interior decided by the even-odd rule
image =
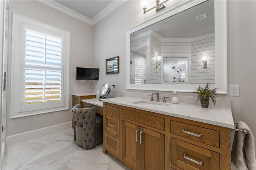
<svg viewBox="0 0 256 170">
<path fill-rule="evenodd" d="M 132 169 L 231 169 L 231 109 L 121 97 L 103 117 L 103 152 Z"/>
</svg>

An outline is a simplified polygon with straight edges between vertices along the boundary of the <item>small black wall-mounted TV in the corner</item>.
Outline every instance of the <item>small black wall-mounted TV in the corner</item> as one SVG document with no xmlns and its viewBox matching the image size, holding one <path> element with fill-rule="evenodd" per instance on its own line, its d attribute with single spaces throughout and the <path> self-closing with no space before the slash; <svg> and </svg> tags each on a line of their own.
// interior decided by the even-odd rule
<svg viewBox="0 0 256 170">
<path fill-rule="evenodd" d="M 76 67 L 76 80 L 99 80 L 99 69 Z"/>
</svg>

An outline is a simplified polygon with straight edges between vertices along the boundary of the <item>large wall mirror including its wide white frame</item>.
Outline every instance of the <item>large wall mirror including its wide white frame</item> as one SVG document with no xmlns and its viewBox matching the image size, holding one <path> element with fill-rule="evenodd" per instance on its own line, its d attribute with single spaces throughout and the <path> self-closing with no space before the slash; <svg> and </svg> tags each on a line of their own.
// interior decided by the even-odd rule
<svg viewBox="0 0 256 170">
<path fill-rule="evenodd" d="M 126 31 L 126 89 L 227 94 L 226 1 L 187 1 Z"/>
</svg>

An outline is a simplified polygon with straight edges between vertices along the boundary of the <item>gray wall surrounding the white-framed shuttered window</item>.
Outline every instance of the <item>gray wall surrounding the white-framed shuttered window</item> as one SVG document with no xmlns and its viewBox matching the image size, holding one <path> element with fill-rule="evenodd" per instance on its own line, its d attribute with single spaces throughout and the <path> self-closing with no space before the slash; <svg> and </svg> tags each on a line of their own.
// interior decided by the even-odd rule
<svg viewBox="0 0 256 170">
<path fill-rule="evenodd" d="M 69 110 L 33 115 L 10 119 L 10 109 L 7 111 L 7 136 L 32 131 L 43 127 L 57 125 L 71 121 L 72 89 L 92 88 L 91 82 L 76 81 L 76 67 L 92 67 L 93 55 L 93 27 L 62 12 L 54 10 L 37 1 L 9 1 L 10 22 L 12 24 L 12 13 L 17 13 L 58 28 L 70 31 L 70 79 L 69 79 Z M 11 31 L 9 32 L 11 33 Z M 9 36 L 10 37 L 10 36 Z M 11 44 L 9 44 L 11 45 Z M 10 53 L 9 53 L 10 54 Z M 9 57 L 11 57 L 9 55 Z M 10 61 L 10 60 L 9 60 Z M 10 75 L 10 62 L 8 63 Z M 10 78 L 9 78 L 10 80 Z M 10 81 L 8 82 L 10 87 Z M 7 108 L 10 108 L 10 92 Z M 70 124 L 71 127 L 71 124 Z"/>
</svg>

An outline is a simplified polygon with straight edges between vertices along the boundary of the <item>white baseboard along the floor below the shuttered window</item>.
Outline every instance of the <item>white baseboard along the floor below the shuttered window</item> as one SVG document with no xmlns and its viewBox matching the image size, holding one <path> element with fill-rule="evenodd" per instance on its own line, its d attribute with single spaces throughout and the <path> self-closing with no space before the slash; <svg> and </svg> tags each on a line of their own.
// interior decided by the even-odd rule
<svg viewBox="0 0 256 170">
<path fill-rule="evenodd" d="M 6 137 L 6 146 L 14 145 L 17 143 L 22 143 L 26 141 L 30 141 L 32 139 L 36 139 L 38 137 L 43 137 L 45 135 L 51 135 L 53 133 L 57 133 L 60 131 L 64 131 L 70 129 L 72 126 L 71 121 L 66 123 L 61 123 L 58 125 L 53 125 L 49 127 L 44 127 L 41 129 L 36 129 L 34 131 L 28 131 L 24 133 L 19 133 L 16 135 Z"/>
</svg>

